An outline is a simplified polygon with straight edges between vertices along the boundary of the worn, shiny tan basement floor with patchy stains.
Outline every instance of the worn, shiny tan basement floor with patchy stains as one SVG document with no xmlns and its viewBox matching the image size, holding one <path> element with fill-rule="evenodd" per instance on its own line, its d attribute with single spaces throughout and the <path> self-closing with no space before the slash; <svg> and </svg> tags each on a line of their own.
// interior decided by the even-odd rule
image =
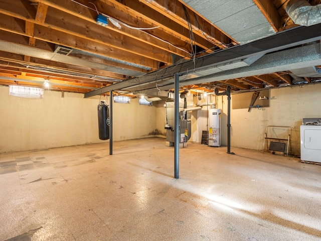
<svg viewBox="0 0 321 241">
<path fill-rule="evenodd" d="M 165 139 L 0 154 L 0 240 L 321 240 L 321 166 Z"/>
</svg>

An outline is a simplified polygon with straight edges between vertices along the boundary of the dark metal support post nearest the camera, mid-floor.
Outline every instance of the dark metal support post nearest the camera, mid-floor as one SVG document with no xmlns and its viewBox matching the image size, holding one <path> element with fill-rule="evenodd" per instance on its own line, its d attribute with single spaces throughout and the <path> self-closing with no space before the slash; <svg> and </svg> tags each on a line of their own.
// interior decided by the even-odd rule
<svg viewBox="0 0 321 241">
<path fill-rule="evenodd" d="M 179 92 L 179 75 L 175 75 L 175 89 L 174 89 L 174 100 L 175 100 L 175 142 L 174 142 L 174 149 L 175 149 L 175 160 L 174 160 L 174 177 L 180 178 L 180 127 L 179 127 L 179 120 L 180 120 L 180 92 Z"/>
</svg>

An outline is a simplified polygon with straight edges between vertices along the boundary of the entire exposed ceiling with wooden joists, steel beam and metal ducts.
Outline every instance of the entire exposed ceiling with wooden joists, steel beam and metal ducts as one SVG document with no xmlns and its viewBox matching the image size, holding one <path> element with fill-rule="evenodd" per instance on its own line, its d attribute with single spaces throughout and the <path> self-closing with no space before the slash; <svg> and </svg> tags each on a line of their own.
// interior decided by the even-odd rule
<svg viewBox="0 0 321 241">
<path fill-rule="evenodd" d="M 321 78 L 321 0 L 201 2 L 3 0 L 0 84 L 162 99 L 177 73 L 192 93 Z"/>
</svg>

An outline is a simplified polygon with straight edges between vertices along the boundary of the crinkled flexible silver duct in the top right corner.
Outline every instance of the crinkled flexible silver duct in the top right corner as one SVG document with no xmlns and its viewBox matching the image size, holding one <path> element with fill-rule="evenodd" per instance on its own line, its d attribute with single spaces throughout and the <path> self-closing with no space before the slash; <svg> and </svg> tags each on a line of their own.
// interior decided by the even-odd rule
<svg viewBox="0 0 321 241">
<path fill-rule="evenodd" d="M 321 23 L 321 4 L 311 6 L 306 0 L 290 0 L 285 11 L 295 24 L 311 26 Z"/>
</svg>

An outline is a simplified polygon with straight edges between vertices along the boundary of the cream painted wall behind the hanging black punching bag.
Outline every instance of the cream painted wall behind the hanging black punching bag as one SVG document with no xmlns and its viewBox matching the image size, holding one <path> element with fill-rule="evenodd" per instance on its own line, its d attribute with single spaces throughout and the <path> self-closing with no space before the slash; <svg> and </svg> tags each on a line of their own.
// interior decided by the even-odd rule
<svg viewBox="0 0 321 241">
<path fill-rule="evenodd" d="M 109 101 L 109 99 L 108 99 Z M 43 99 L 9 95 L 0 86 L 0 152 L 36 150 L 106 142 L 99 140 L 97 105 L 99 97 L 44 91 Z M 113 140 L 153 137 L 156 107 L 113 103 Z"/>
</svg>

